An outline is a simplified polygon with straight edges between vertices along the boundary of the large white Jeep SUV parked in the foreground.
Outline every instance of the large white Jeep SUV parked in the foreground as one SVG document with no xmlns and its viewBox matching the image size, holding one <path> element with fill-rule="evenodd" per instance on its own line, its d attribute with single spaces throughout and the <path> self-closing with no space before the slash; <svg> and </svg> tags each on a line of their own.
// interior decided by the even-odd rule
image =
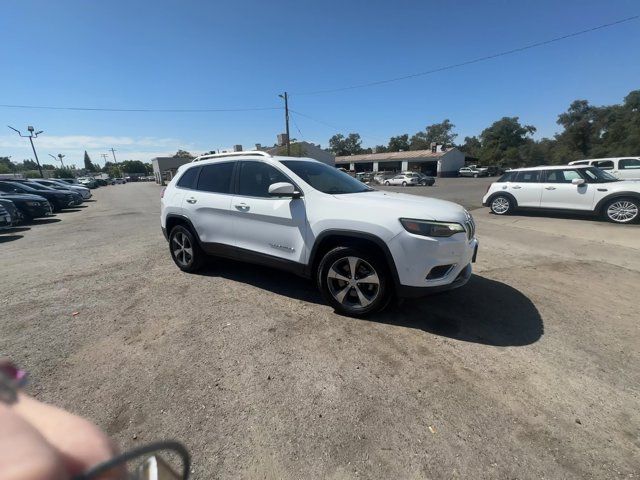
<svg viewBox="0 0 640 480">
<path fill-rule="evenodd" d="M 464 285 L 478 242 L 460 205 L 376 191 L 309 158 L 205 155 L 162 195 L 161 224 L 183 271 L 207 254 L 313 278 L 339 312 L 366 315 L 391 295 Z"/>
</svg>

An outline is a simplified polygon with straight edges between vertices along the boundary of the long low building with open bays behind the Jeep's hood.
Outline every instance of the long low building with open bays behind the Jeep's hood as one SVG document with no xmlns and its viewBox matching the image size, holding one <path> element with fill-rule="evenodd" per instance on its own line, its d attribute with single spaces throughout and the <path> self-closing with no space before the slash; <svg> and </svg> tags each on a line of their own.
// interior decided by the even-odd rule
<svg viewBox="0 0 640 480">
<path fill-rule="evenodd" d="M 464 167 L 464 153 L 455 147 L 433 145 L 430 150 L 340 156 L 336 157 L 335 166 L 355 172 L 417 171 L 434 177 L 455 177 Z"/>
</svg>

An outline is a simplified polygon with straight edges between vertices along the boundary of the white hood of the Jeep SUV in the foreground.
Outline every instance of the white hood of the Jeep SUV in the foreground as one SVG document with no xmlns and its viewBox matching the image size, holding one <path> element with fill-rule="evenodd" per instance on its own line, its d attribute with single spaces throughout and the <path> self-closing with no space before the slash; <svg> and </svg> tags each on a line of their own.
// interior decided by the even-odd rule
<svg viewBox="0 0 640 480">
<path fill-rule="evenodd" d="M 438 220 L 443 222 L 464 223 L 467 214 L 464 207 L 457 203 L 437 198 L 421 197 L 406 193 L 374 190 L 372 192 L 333 195 L 339 201 L 349 203 L 350 208 L 385 211 L 401 218 L 420 220 Z M 353 205 L 353 207 L 351 207 Z"/>
</svg>

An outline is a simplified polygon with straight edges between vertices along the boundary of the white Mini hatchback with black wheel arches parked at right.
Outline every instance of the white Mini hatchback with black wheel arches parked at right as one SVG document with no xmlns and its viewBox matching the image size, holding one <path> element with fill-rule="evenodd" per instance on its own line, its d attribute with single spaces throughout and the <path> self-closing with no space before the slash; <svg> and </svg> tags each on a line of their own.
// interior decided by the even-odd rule
<svg viewBox="0 0 640 480">
<path fill-rule="evenodd" d="M 634 223 L 640 218 L 640 182 L 618 180 L 584 165 L 519 168 L 492 183 L 482 203 L 496 215 L 517 209 L 567 210 Z"/>
</svg>

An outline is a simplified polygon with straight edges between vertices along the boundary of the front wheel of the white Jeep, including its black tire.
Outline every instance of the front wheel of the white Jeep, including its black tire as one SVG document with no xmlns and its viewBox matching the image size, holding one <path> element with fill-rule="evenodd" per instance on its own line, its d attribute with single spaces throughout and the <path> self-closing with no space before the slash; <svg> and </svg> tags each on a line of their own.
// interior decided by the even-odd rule
<svg viewBox="0 0 640 480">
<path fill-rule="evenodd" d="M 371 281 L 358 281 L 365 278 Z M 350 317 L 378 312 L 391 298 L 391 277 L 386 265 L 358 248 L 336 247 L 327 252 L 318 266 L 316 280 L 322 296 L 336 312 Z"/>
</svg>

